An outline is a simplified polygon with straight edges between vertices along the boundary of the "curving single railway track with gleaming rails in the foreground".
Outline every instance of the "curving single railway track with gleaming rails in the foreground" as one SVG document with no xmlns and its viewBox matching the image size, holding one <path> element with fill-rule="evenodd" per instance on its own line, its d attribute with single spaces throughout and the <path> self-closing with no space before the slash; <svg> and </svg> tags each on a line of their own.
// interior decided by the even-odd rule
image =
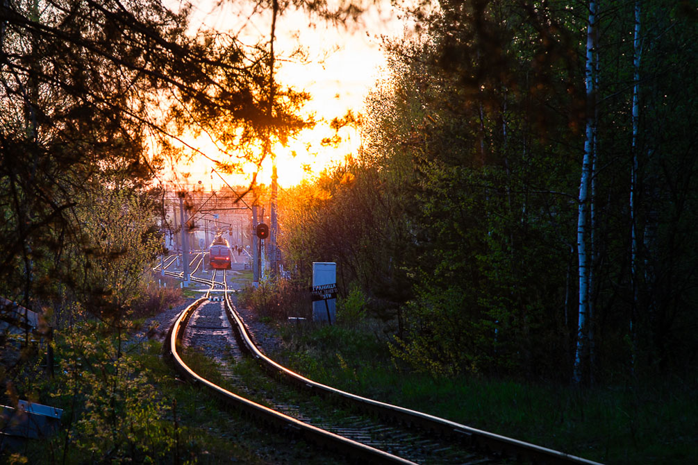
<svg viewBox="0 0 698 465">
<path fill-rule="evenodd" d="M 179 273 L 165 271 L 181 277 Z M 399 464 L 507 464 L 514 459 L 535 464 L 586 464 L 586 459 L 523 443 L 465 425 L 450 422 L 425 413 L 403 409 L 372 399 L 366 399 L 329 386 L 315 383 L 267 358 L 254 344 L 250 330 L 239 317 L 230 297 L 225 273 L 223 283 L 216 282 L 216 273 L 210 280 L 192 277 L 209 284 L 205 297 L 186 308 L 176 319 L 165 343 L 175 367 L 186 379 L 198 383 L 220 397 L 223 402 L 246 412 L 249 416 L 273 425 L 285 432 L 332 448 L 344 455 L 370 463 Z M 209 302 L 216 285 L 223 287 L 223 302 Z M 226 323 L 227 321 L 227 323 Z M 187 330 L 188 323 L 190 328 Z M 232 333 L 235 337 L 232 337 Z M 177 352 L 178 344 L 196 345 L 198 337 L 224 337 L 232 349 L 234 363 L 242 361 L 242 353 L 249 355 L 271 374 L 271 379 L 285 381 L 296 394 L 289 395 L 288 387 L 272 383 L 272 388 L 250 392 L 245 386 L 235 386 L 231 392 L 195 374 Z M 225 356 L 214 356 L 223 367 L 223 376 L 234 378 Z M 235 385 L 235 380 L 231 381 Z M 269 384 L 269 383 L 266 383 Z M 299 401 L 304 392 L 307 401 Z M 318 404 L 317 397 L 329 402 Z M 256 397 L 253 402 L 248 397 Z M 274 399 L 293 399 L 293 403 Z M 267 404 L 262 405 L 260 402 Z M 341 404 L 338 409 L 337 405 Z M 350 412 L 344 411 L 350 409 Z M 334 412 L 327 415 L 327 412 Z M 360 412 L 360 413 L 357 413 Z"/>
</svg>

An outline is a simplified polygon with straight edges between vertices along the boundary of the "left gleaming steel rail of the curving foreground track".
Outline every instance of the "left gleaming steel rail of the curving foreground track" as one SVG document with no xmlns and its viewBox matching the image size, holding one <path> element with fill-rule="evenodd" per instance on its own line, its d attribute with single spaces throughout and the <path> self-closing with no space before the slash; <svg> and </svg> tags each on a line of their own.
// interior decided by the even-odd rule
<svg viewBox="0 0 698 465">
<path fill-rule="evenodd" d="M 177 346 L 181 344 L 181 338 L 184 335 L 184 328 L 186 328 L 188 319 L 191 318 L 194 310 L 196 310 L 199 305 L 204 303 L 206 300 L 206 297 L 202 297 L 180 312 L 177 319 L 174 321 L 174 324 L 172 324 L 168 337 L 165 340 L 165 347 L 168 354 L 171 356 L 172 362 L 181 376 L 189 381 L 192 381 L 193 383 L 200 384 L 201 386 L 207 388 L 213 392 L 216 397 L 222 399 L 226 404 L 242 410 L 248 415 L 259 418 L 274 427 L 278 427 L 292 434 L 296 434 L 297 436 L 301 436 L 308 441 L 334 448 L 338 452 L 349 455 L 350 457 L 355 457 L 365 460 L 366 462 L 376 464 L 416 465 L 415 462 L 410 462 L 409 460 L 397 457 L 396 455 L 391 455 L 383 450 L 372 448 L 369 445 L 365 445 L 357 441 L 352 441 L 351 439 L 339 436 L 338 434 L 325 431 L 325 429 L 308 425 L 288 415 L 269 409 L 268 407 L 257 404 L 256 402 L 252 402 L 251 400 L 240 397 L 229 390 L 225 390 L 224 388 L 221 388 L 221 386 L 217 386 L 216 384 L 211 383 L 211 381 L 208 381 L 202 376 L 196 374 L 190 367 L 188 367 L 188 365 L 186 365 L 186 363 L 184 363 L 184 360 L 181 359 L 181 356 L 179 356 L 177 351 Z"/>
</svg>

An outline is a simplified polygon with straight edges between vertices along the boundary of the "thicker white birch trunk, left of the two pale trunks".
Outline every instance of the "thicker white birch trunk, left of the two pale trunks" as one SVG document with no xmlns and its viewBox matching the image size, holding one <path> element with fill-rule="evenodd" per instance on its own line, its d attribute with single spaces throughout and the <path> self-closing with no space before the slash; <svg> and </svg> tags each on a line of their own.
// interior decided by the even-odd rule
<svg viewBox="0 0 698 465">
<path fill-rule="evenodd" d="M 579 207 L 577 212 L 577 257 L 579 260 L 579 321 L 577 323 L 577 350 L 574 355 L 574 383 L 581 383 L 586 368 L 588 353 L 588 302 L 589 302 L 589 259 L 586 236 L 588 234 L 589 188 L 594 151 L 595 82 L 594 53 L 596 49 L 596 9 L 597 2 L 589 2 L 589 21 L 586 33 L 586 137 L 584 139 L 584 160 L 581 164 L 581 181 L 579 182 Z"/>
</svg>

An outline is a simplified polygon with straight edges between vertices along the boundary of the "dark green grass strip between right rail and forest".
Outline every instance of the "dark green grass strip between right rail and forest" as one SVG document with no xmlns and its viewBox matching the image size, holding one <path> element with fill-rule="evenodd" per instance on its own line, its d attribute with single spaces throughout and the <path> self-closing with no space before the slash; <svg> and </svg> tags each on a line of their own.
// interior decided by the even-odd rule
<svg viewBox="0 0 698 465">
<path fill-rule="evenodd" d="M 287 326 L 284 363 L 315 381 L 607 464 L 698 457 L 696 383 L 572 388 L 461 377 L 394 363 L 375 326 Z"/>
</svg>

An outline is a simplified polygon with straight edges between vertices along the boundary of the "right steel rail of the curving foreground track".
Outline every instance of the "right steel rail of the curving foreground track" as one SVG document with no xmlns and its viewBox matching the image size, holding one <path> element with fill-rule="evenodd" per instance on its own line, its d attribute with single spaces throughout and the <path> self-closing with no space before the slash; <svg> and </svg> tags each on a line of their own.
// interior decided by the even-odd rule
<svg viewBox="0 0 698 465">
<path fill-rule="evenodd" d="M 445 418 L 429 415 L 428 413 L 422 413 L 401 406 L 361 397 L 312 381 L 300 374 L 292 372 L 290 369 L 279 365 L 279 363 L 265 356 L 253 342 L 244 321 L 242 321 L 237 310 L 235 310 L 235 305 L 232 305 L 228 292 L 225 292 L 225 303 L 226 314 L 228 314 L 231 326 L 237 329 L 236 336 L 239 338 L 239 342 L 242 342 L 242 346 L 246 348 L 254 358 L 258 359 L 269 372 L 272 372 L 272 374 L 279 374 L 288 381 L 301 388 L 310 390 L 314 394 L 335 397 L 358 406 L 361 409 L 373 411 L 379 415 L 389 416 L 396 420 L 406 422 L 408 425 L 418 425 L 419 427 L 431 429 L 439 434 L 466 439 L 481 448 L 489 448 L 489 450 L 503 452 L 510 457 L 529 460 L 535 464 L 602 465 L 599 462 L 593 462 L 588 459 L 566 454 L 565 452 L 544 448 L 540 445 L 526 443 L 517 439 L 508 438 L 507 436 L 501 436 L 500 434 L 483 431 L 482 429 L 468 427 L 451 420 L 446 420 Z"/>
</svg>

